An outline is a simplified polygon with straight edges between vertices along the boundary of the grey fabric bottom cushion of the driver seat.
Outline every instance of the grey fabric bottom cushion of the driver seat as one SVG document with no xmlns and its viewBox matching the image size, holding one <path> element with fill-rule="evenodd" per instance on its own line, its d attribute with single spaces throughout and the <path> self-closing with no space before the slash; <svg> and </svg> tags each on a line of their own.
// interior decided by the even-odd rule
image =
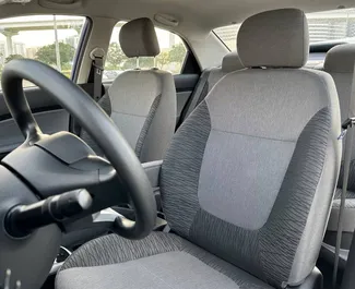
<svg viewBox="0 0 355 289">
<path fill-rule="evenodd" d="M 75 251 L 62 266 L 57 289 L 269 289 L 253 276 L 182 238 L 153 232 L 140 241 L 109 234 Z"/>
</svg>

